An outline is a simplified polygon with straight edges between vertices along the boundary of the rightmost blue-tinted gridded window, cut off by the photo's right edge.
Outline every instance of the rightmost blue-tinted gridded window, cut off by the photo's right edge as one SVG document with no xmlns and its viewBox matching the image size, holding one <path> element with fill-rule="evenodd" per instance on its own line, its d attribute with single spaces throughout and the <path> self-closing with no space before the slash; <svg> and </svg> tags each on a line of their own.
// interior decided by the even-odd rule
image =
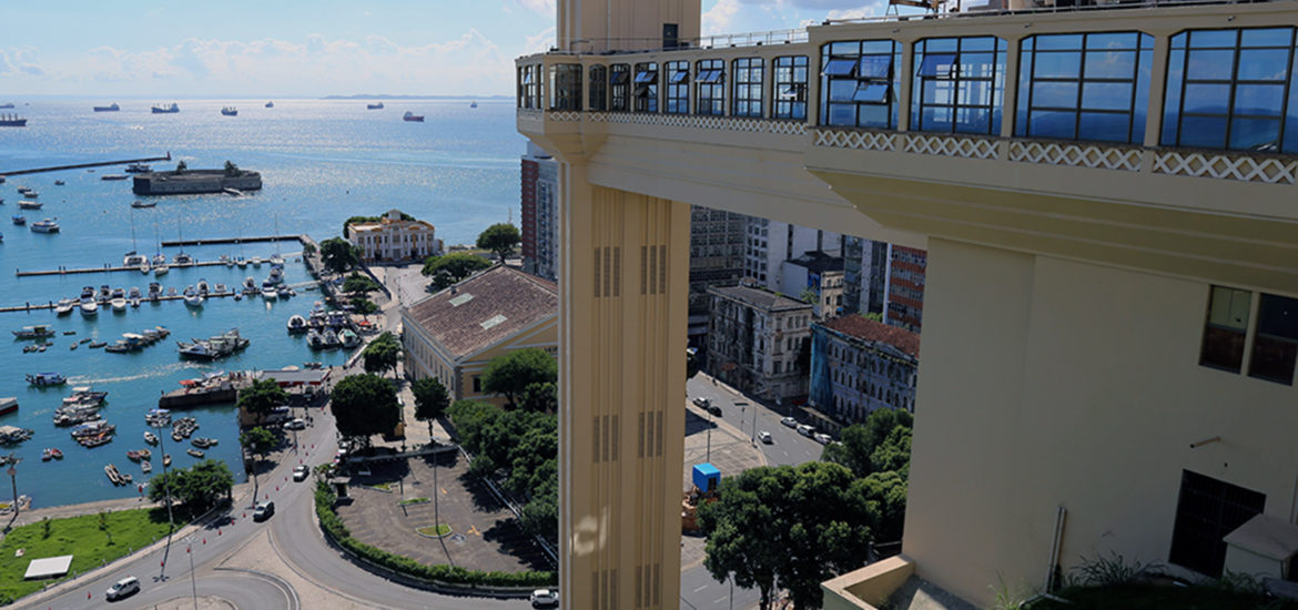
<svg viewBox="0 0 1298 610">
<path fill-rule="evenodd" d="M 1192 30 L 1172 47 L 1163 145 L 1295 149 L 1293 27 Z"/>
</svg>

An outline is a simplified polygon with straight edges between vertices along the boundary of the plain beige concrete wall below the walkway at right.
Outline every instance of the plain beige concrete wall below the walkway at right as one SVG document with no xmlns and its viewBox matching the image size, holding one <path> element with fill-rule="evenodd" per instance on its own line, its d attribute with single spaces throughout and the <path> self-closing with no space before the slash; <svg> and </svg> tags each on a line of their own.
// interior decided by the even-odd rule
<svg viewBox="0 0 1298 610">
<path fill-rule="evenodd" d="M 1066 570 L 1166 563 L 1182 469 L 1293 519 L 1298 391 L 1198 365 L 1207 283 L 938 239 L 928 254 L 903 544 L 922 576 L 976 602 L 1040 588 L 1060 505 Z"/>
</svg>

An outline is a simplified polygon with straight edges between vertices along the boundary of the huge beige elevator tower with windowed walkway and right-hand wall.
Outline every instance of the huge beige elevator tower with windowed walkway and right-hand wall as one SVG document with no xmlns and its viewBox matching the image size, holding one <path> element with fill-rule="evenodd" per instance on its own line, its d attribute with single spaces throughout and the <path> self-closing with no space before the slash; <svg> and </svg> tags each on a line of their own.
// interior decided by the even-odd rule
<svg viewBox="0 0 1298 610">
<path fill-rule="evenodd" d="M 1216 575 L 1295 528 L 1298 3 L 990 6 L 700 38 L 697 1 L 561 0 L 518 60 L 559 161 L 567 607 L 679 604 L 688 205 L 928 253 L 903 557 L 827 607 L 1110 552 Z"/>
</svg>

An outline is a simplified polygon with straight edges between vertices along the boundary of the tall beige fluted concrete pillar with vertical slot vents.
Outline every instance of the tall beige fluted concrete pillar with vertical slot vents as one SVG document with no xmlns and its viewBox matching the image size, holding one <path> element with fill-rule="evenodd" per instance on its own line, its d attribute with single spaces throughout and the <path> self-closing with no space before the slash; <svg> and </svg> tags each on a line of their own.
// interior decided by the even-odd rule
<svg viewBox="0 0 1298 610">
<path fill-rule="evenodd" d="M 689 206 L 559 165 L 563 607 L 676 609 Z"/>
</svg>

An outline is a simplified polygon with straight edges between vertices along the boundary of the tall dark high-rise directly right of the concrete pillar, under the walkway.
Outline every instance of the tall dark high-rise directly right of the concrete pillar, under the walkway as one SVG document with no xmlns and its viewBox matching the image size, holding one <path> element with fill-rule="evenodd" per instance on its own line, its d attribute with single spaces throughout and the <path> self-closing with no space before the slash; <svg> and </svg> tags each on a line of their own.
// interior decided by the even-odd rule
<svg viewBox="0 0 1298 610">
<path fill-rule="evenodd" d="M 689 347 L 707 341 L 707 288 L 736 286 L 744 275 L 748 217 L 701 205 L 689 208 Z M 706 350 L 705 350 L 706 354 Z"/>
</svg>

